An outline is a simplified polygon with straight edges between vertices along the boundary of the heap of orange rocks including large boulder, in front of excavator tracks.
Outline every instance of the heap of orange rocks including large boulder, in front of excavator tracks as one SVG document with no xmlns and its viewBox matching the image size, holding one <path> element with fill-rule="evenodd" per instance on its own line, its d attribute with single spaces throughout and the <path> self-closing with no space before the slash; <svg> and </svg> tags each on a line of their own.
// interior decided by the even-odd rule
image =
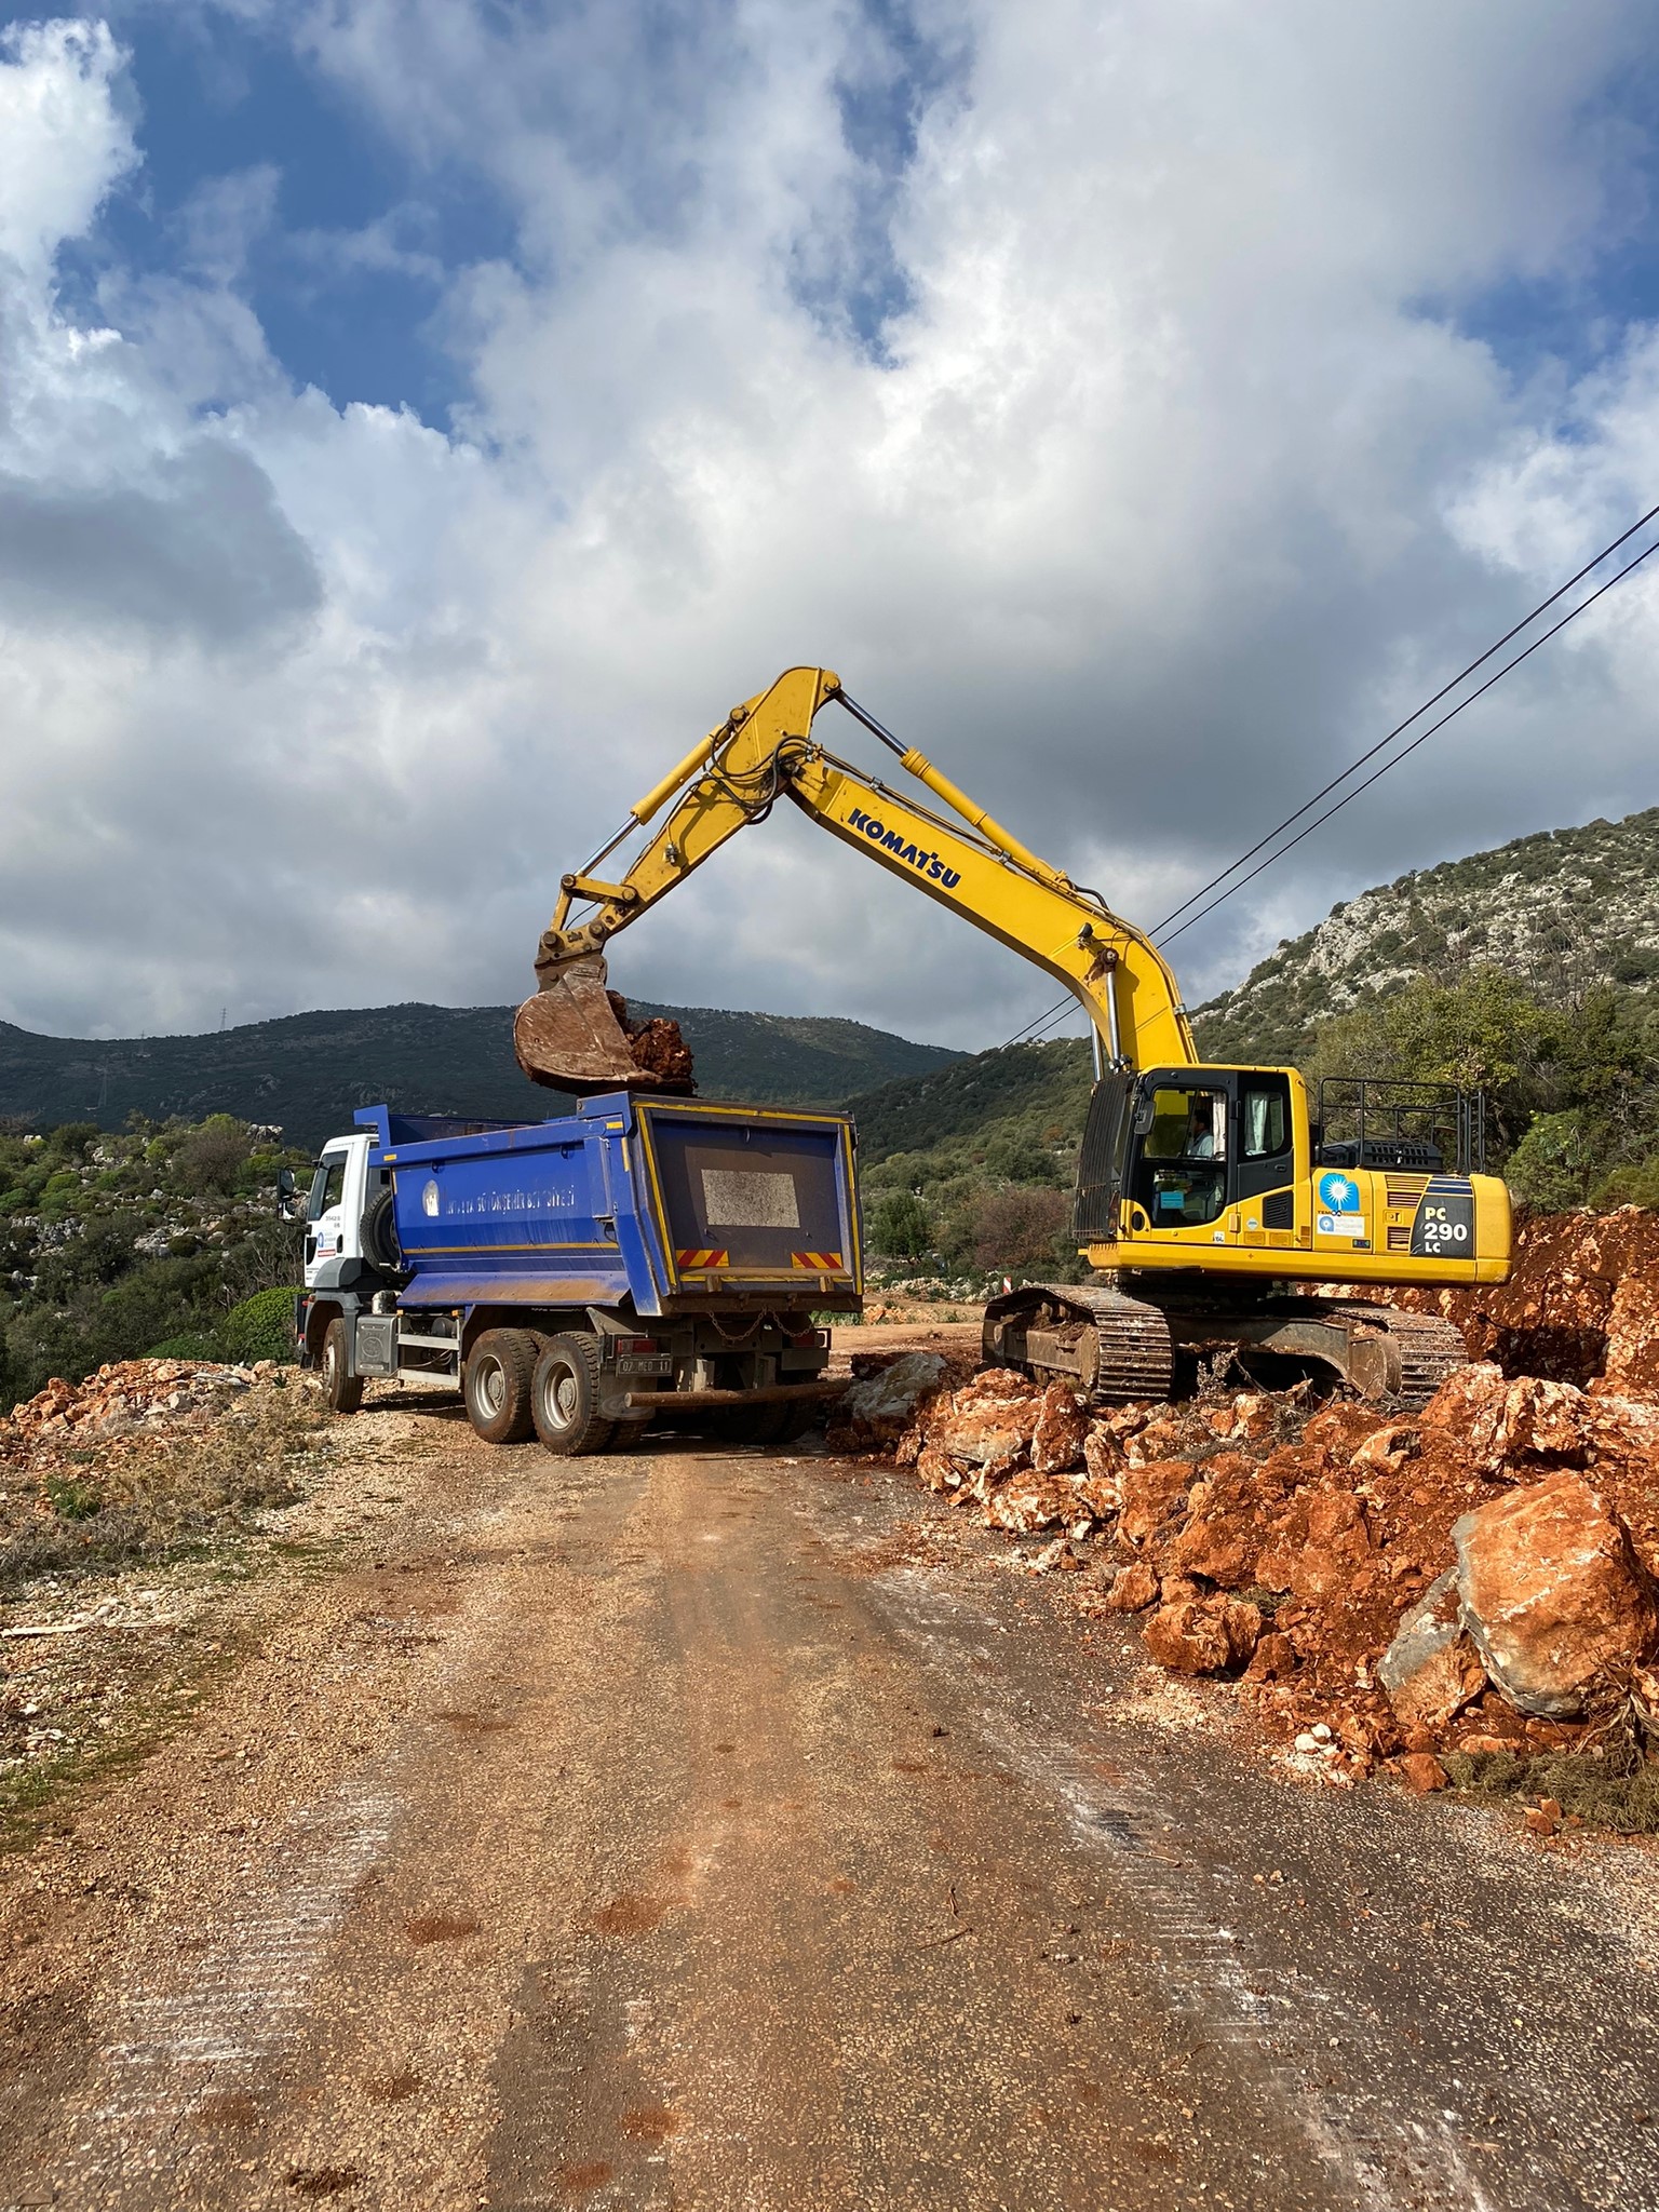
<svg viewBox="0 0 1659 2212">
<path fill-rule="evenodd" d="M 1091 1416 L 984 1369 L 896 1447 L 933 1491 L 1144 1615 L 1159 1666 L 1237 1674 L 1332 1778 L 1438 1750 L 1564 1750 L 1659 1697 L 1659 1405 L 1486 1360 L 1411 1418 L 1307 1389 Z M 1413 1763 L 1411 1763 L 1413 1761 Z M 1429 1772 L 1433 1770 L 1433 1772 Z"/>
</svg>

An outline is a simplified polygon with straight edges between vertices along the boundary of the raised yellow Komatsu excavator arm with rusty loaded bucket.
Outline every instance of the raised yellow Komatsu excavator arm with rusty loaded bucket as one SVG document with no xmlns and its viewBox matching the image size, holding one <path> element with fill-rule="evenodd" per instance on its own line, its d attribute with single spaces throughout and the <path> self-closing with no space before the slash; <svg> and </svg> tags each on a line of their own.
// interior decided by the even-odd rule
<svg viewBox="0 0 1659 2212">
<path fill-rule="evenodd" d="M 894 792 L 827 752 L 814 723 L 832 699 L 949 812 Z M 611 1011 L 604 947 L 739 830 L 765 821 L 779 799 L 1046 969 L 1086 1009 L 1104 1062 L 1144 1068 L 1197 1060 L 1175 978 L 1141 931 L 1029 852 L 920 752 L 889 737 L 845 697 L 832 670 L 790 668 L 770 690 L 732 708 L 646 792 L 611 847 L 562 878 L 535 956 L 540 989 L 513 1031 L 526 1075 L 566 1091 L 650 1079 L 635 1066 Z M 617 880 L 599 874 L 608 854 L 659 814 L 628 869 Z M 584 909 L 580 920 L 575 909 Z"/>
</svg>

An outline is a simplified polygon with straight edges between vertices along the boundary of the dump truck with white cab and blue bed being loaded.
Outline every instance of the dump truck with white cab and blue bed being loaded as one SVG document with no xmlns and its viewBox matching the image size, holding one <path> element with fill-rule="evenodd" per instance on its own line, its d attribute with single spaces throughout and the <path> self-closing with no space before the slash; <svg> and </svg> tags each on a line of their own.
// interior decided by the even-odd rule
<svg viewBox="0 0 1659 2212">
<path fill-rule="evenodd" d="M 296 1203 L 296 1197 L 294 1197 Z M 546 1121 L 365 1106 L 316 1161 L 301 1363 L 458 1389 L 489 1442 L 606 1451 L 653 1420 L 776 1444 L 863 1303 L 845 1115 L 584 1097 Z"/>
</svg>

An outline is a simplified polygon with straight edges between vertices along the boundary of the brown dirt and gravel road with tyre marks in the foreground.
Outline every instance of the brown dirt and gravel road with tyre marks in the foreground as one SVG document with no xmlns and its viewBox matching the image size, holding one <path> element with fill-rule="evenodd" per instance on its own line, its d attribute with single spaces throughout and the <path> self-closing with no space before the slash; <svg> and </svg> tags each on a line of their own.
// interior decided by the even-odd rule
<svg viewBox="0 0 1659 2212">
<path fill-rule="evenodd" d="M 0 1871 L 0 2205 L 1659 2203 L 1646 1849 L 1274 1778 L 891 1469 L 376 1425 Z"/>
</svg>

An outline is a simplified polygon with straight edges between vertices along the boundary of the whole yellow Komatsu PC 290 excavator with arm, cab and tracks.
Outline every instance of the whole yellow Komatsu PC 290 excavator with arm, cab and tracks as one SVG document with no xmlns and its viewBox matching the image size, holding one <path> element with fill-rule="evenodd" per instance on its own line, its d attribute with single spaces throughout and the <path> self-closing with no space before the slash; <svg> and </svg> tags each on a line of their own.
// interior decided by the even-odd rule
<svg viewBox="0 0 1659 2212">
<path fill-rule="evenodd" d="M 836 759 L 838 703 L 938 805 Z M 1323 1082 L 1199 1062 L 1164 956 L 1106 900 L 1029 852 L 827 668 L 790 668 L 686 754 L 588 865 L 562 878 L 513 1044 L 562 1091 L 650 1088 L 606 991 L 604 947 L 779 799 L 1046 969 L 1095 1035 L 1075 1234 L 1093 1279 L 1031 1283 L 984 1314 L 987 1360 L 1068 1378 L 1099 1402 L 1168 1396 L 1181 1363 L 1261 1380 L 1325 1371 L 1374 1398 L 1427 1400 L 1464 1358 L 1433 1314 L 1296 1283 L 1502 1283 L 1504 1183 L 1484 1175 L 1484 1102 L 1438 1084 Z M 664 814 L 664 807 L 668 810 Z M 945 812 L 940 812 L 945 810 Z M 664 814 L 619 880 L 597 874 Z M 573 909 L 584 909 L 573 920 Z"/>
</svg>

